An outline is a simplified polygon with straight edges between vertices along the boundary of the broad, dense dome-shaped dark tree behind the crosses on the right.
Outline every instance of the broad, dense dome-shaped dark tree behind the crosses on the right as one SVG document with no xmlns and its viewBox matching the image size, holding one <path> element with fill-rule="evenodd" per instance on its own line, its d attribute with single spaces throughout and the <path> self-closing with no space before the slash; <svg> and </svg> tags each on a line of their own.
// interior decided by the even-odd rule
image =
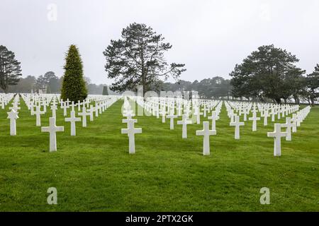
<svg viewBox="0 0 319 226">
<path fill-rule="evenodd" d="M 305 73 L 295 66 L 298 61 L 295 55 L 274 45 L 259 47 L 230 73 L 233 95 L 269 98 L 277 103 L 298 95 L 304 86 Z"/>
</svg>

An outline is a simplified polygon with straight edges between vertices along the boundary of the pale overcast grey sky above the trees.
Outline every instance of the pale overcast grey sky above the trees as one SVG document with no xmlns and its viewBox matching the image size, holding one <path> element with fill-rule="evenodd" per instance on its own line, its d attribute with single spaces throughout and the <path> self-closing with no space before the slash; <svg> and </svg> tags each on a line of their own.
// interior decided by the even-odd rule
<svg viewBox="0 0 319 226">
<path fill-rule="evenodd" d="M 0 44 L 16 53 L 23 77 L 46 71 L 62 76 L 65 52 L 77 44 L 84 75 L 110 84 L 102 52 L 136 22 L 173 45 L 166 57 L 186 64 L 184 80 L 228 78 L 263 44 L 296 54 L 310 73 L 319 64 L 318 12 L 318 0 L 1 0 Z"/>
</svg>

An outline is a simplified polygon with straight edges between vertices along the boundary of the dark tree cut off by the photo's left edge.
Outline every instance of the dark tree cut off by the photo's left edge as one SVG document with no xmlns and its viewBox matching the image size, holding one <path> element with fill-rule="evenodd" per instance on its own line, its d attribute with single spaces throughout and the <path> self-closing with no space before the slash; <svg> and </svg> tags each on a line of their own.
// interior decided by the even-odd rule
<svg viewBox="0 0 319 226">
<path fill-rule="evenodd" d="M 0 45 L 0 88 L 8 93 L 9 85 L 16 85 L 21 74 L 20 62 L 13 52 Z"/>
</svg>

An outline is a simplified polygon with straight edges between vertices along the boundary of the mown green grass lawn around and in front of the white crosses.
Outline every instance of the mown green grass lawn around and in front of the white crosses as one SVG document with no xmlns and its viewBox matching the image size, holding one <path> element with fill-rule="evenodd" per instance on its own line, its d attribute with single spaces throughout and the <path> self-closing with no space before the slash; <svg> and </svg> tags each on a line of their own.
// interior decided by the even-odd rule
<svg viewBox="0 0 319 226">
<path fill-rule="evenodd" d="M 203 137 L 196 136 L 203 124 L 188 125 L 182 139 L 177 120 L 169 130 L 169 120 L 147 116 L 135 117 L 142 133 L 129 155 L 122 104 L 94 121 L 88 117 L 87 128 L 77 123 L 77 136 L 69 135 L 59 108 L 57 126 L 65 132 L 57 133 L 55 153 L 22 99 L 17 136 L 9 136 L 11 105 L 0 109 L 0 211 L 319 211 L 319 107 L 292 141 L 282 139 L 281 157 L 274 157 L 274 139 L 267 138 L 274 123 L 258 121 L 252 132 L 246 121 L 235 140 L 225 105 L 211 155 L 203 156 Z M 48 126 L 50 112 L 41 126 Z M 50 187 L 57 189 L 57 205 L 47 204 Z M 270 190 L 270 205 L 259 202 L 262 187 Z"/>
</svg>

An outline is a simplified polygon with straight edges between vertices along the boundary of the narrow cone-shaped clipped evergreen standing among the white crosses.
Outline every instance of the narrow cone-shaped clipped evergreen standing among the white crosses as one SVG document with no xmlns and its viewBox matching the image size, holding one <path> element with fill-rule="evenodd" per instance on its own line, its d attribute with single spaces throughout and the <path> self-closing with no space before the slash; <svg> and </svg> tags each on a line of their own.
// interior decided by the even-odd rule
<svg viewBox="0 0 319 226">
<path fill-rule="evenodd" d="M 82 60 L 74 44 L 69 47 L 65 60 L 65 75 L 62 82 L 61 98 L 74 102 L 82 101 L 87 96 L 87 89 L 83 76 Z"/>
</svg>

